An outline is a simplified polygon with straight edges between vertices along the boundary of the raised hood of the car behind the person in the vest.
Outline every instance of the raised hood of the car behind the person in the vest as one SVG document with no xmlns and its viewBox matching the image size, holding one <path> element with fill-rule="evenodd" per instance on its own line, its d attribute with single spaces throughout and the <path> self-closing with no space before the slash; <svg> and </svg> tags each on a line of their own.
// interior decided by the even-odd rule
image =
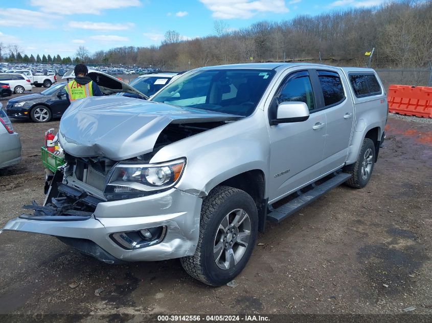
<svg viewBox="0 0 432 323">
<path fill-rule="evenodd" d="M 138 96 L 148 99 L 148 96 L 144 93 L 141 93 L 137 89 L 131 87 L 125 82 L 101 71 L 97 71 L 94 69 L 89 69 L 87 76 L 92 79 L 101 89 L 104 94 L 113 94 L 113 93 L 131 93 L 137 94 Z M 65 72 L 62 76 L 63 79 L 74 79 L 75 73 L 74 70 L 71 69 Z"/>
</svg>

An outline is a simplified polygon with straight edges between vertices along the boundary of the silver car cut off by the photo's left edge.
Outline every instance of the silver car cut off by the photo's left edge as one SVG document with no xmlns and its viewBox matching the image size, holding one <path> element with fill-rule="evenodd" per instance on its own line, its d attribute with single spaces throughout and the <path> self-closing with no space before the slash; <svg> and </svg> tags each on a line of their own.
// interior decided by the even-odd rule
<svg viewBox="0 0 432 323">
<path fill-rule="evenodd" d="M 12 123 L 0 103 L 0 168 L 19 164 L 21 161 L 21 141 L 13 131 Z"/>
</svg>

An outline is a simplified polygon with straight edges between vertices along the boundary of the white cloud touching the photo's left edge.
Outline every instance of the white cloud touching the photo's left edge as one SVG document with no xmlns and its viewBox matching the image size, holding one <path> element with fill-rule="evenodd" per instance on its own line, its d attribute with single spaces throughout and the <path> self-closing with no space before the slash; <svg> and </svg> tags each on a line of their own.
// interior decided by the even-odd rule
<svg viewBox="0 0 432 323">
<path fill-rule="evenodd" d="M 54 17 L 56 18 L 56 17 Z M 18 9 L 18 8 L 3 8 L 0 10 L 0 26 L 11 27 L 26 27 L 26 28 L 52 28 L 52 15 L 46 13 Z"/>
</svg>

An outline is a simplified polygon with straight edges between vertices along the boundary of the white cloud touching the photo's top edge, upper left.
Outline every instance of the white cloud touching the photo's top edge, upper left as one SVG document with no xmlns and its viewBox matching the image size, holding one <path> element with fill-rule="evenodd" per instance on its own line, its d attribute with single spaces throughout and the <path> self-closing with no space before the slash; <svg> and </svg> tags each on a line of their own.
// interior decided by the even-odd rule
<svg viewBox="0 0 432 323">
<path fill-rule="evenodd" d="M 58 0 L 31 0 L 30 5 L 39 7 L 41 11 L 48 13 L 58 13 L 63 15 L 94 14 L 100 15 L 106 9 L 120 9 L 127 7 L 141 6 L 139 0 L 103 0 L 88 1 L 88 0 L 73 0 L 61 1 Z"/>
</svg>

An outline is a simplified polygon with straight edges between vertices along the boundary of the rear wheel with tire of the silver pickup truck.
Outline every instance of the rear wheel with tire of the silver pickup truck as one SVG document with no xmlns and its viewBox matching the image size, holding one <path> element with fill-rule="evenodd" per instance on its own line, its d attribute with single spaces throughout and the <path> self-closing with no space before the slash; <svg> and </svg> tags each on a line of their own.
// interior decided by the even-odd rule
<svg viewBox="0 0 432 323">
<path fill-rule="evenodd" d="M 365 138 L 361 145 L 357 161 L 354 164 L 344 167 L 344 172 L 352 175 L 346 184 L 355 188 L 365 187 L 371 179 L 374 164 L 375 144 L 371 139 Z"/>
</svg>

